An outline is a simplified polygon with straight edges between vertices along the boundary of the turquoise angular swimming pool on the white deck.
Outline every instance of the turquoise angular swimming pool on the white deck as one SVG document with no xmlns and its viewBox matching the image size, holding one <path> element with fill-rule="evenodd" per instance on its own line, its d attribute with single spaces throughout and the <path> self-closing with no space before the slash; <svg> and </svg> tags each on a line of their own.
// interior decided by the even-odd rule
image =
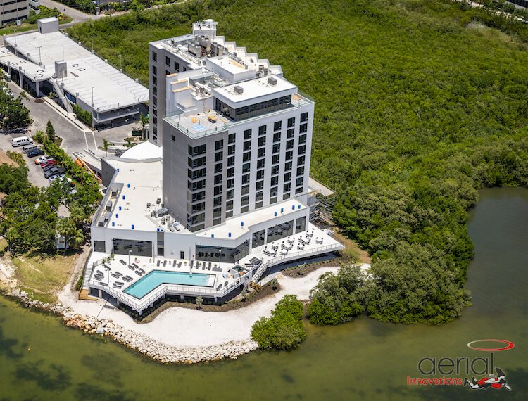
<svg viewBox="0 0 528 401">
<path fill-rule="evenodd" d="M 212 287 L 215 284 L 214 274 L 165 272 L 153 270 L 139 281 L 125 289 L 125 293 L 141 299 L 161 284 L 180 284 L 182 286 Z"/>
</svg>

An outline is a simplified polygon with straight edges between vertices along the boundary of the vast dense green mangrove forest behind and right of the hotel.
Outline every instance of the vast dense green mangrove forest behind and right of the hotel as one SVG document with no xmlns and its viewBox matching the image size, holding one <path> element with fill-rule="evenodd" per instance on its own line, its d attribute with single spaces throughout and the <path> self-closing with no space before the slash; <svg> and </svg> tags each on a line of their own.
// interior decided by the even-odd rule
<svg viewBox="0 0 528 401">
<path fill-rule="evenodd" d="M 148 42 L 203 18 L 315 99 L 311 174 L 337 191 L 336 222 L 373 255 L 366 312 L 457 317 L 477 189 L 528 184 L 528 25 L 448 0 L 217 0 L 70 34 L 84 44 L 94 35 L 96 52 L 114 65 L 124 55 L 146 83 Z"/>
</svg>

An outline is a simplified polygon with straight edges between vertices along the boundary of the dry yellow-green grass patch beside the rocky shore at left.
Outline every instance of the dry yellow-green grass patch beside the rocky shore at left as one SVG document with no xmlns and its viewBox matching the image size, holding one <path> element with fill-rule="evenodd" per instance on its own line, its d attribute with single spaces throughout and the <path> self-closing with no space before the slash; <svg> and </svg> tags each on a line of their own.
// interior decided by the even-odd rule
<svg viewBox="0 0 528 401">
<path fill-rule="evenodd" d="M 15 266 L 15 279 L 32 298 L 54 302 L 54 293 L 60 291 L 70 279 L 78 253 L 50 257 L 20 255 L 11 257 Z"/>
</svg>

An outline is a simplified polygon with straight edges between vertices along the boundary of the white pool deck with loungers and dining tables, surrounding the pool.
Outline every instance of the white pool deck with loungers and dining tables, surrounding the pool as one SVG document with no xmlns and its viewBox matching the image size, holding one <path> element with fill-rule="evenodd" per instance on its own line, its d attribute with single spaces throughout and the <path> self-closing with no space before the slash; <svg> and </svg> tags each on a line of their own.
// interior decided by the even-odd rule
<svg viewBox="0 0 528 401">
<path fill-rule="evenodd" d="M 332 236 L 313 226 L 313 224 L 308 224 L 307 231 L 253 248 L 249 255 L 239 260 L 237 265 L 246 267 L 249 265 L 249 261 L 256 257 L 262 260 L 262 265 L 265 265 L 262 269 L 264 271 L 284 262 L 322 255 L 343 248 L 344 246 Z M 105 291 L 116 298 L 118 302 L 132 307 L 137 312 L 142 312 L 167 294 L 180 295 L 182 298 L 201 295 L 217 300 L 225 297 L 231 291 L 241 288 L 246 284 L 246 281 L 249 284 L 253 274 L 257 272 L 257 269 L 253 271 L 249 267 L 245 274 L 232 274 L 230 269 L 235 264 L 227 262 L 222 262 L 219 265 L 218 262 L 131 255 L 129 263 L 128 255 L 114 255 L 113 260 L 108 260 L 109 256 L 106 253 L 92 253 L 87 263 L 84 280 L 87 281 L 90 288 Z M 125 293 L 129 286 L 137 283 L 153 270 L 211 274 L 214 276 L 214 284 L 213 286 L 161 284 L 140 299 Z M 260 272 L 258 279 L 262 275 L 263 272 Z M 126 280 L 124 279 L 125 276 L 127 277 Z"/>
</svg>

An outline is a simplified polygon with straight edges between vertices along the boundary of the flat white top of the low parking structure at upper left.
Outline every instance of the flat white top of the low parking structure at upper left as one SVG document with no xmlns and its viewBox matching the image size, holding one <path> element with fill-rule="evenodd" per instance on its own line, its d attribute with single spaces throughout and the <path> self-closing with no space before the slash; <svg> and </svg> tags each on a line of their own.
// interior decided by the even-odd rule
<svg viewBox="0 0 528 401">
<path fill-rule="evenodd" d="M 64 89 L 73 96 L 78 92 L 80 99 L 91 105 L 94 87 L 95 109 L 113 110 L 149 100 L 149 89 L 61 32 L 32 32 L 16 38 L 6 37 L 5 41 L 11 46 L 16 43 L 17 51 L 25 56 L 29 54 L 27 58 L 34 63 L 42 61 L 44 69 L 51 71 L 51 75 L 55 73 L 55 61 L 66 61 L 68 76 L 61 79 Z"/>
</svg>

